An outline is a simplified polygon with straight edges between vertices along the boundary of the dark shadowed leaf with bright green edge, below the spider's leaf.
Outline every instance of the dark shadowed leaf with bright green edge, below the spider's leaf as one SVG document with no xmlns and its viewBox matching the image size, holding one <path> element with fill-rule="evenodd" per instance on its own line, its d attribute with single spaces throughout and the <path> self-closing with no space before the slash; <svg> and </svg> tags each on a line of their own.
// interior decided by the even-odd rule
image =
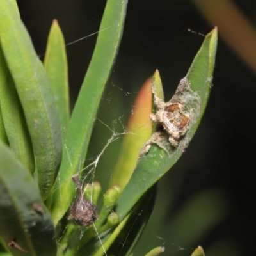
<svg viewBox="0 0 256 256">
<path fill-rule="evenodd" d="M 107 232 L 99 234 L 99 236 L 101 236 L 101 243 L 103 245 L 99 243 L 98 237 L 95 237 L 96 241 L 90 241 L 90 243 L 85 245 L 83 243 L 79 243 L 79 246 L 75 247 L 79 248 L 77 256 L 83 256 L 84 250 L 88 252 L 88 255 L 94 256 L 103 256 L 106 254 L 115 255 L 116 252 L 118 252 L 118 255 L 120 256 L 130 255 L 134 250 L 134 246 L 136 246 L 136 243 L 140 239 L 140 236 L 143 233 L 143 230 L 145 229 L 154 209 L 156 191 L 157 184 L 152 186 L 152 188 L 150 188 L 147 193 L 140 198 L 140 202 L 138 205 L 136 205 L 136 207 L 134 207 L 131 214 L 128 214 L 124 220 L 119 223 L 115 230 L 109 229 Z M 142 210 L 141 205 L 143 205 Z M 138 218 L 138 214 L 140 218 Z M 100 228 L 97 230 L 99 231 Z M 80 241 L 83 241 L 83 239 Z M 104 250 L 107 253 L 105 253 Z"/>
</svg>

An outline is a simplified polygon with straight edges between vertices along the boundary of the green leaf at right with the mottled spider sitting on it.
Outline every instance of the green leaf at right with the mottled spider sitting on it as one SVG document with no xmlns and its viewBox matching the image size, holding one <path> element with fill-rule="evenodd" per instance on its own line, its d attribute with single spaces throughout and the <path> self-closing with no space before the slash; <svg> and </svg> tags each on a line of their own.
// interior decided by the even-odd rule
<svg viewBox="0 0 256 256">
<path fill-rule="evenodd" d="M 211 89 L 212 72 L 214 67 L 214 58 L 216 55 L 217 29 L 205 36 L 202 47 L 196 54 L 196 57 L 189 68 L 186 79 L 182 84 L 190 83 L 191 93 L 186 95 L 188 99 L 196 99 L 189 107 L 196 113 L 191 114 L 191 127 L 189 127 L 186 136 L 180 140 L 177 148 L 172 148 L 166 152 L 157 145 L 152 145 L 148 154 L 146 154 L 136 166 L 129 183 L 123 193 L 118 198 L 116 212 L 122 220 L 132 207 L 138 202 L 139 198 L 159 180 L 182 156 L 184 148 L 188 147 L 195 131 L 200 123 L 204 113 L 205 106 Z M 198 104 L 200 103 L 200 106 Z M 199 110 L 199 111 L 198 111 Z"/>
</svg>

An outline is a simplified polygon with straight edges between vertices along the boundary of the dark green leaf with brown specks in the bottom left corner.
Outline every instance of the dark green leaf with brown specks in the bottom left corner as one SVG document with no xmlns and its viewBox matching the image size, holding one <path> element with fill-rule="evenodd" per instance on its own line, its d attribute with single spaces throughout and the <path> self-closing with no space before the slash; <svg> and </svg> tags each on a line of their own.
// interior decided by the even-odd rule
<svg viewBox="0 0 256 256">
<path fill-rule="evenodd" d="M 31 173 L 0 141 L 0 236 L 13 255 L 56 256 L 55 230 Z"/>
</svg>

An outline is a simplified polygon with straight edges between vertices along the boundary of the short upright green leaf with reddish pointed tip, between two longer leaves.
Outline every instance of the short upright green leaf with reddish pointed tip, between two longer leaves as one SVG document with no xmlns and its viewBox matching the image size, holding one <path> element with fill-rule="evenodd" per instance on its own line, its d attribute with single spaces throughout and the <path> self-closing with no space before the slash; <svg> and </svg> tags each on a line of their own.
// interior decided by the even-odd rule
<svg viewBox="0 0 256 256">
<path fill-rule="evenodd" d="M 61 131 L 67 129 L 70 109 L 68 93 L 68 63 L 65 41 L 57 20 L 53 20 L 48 36 L 44 67 L 60 117 Z"/>
</svg>

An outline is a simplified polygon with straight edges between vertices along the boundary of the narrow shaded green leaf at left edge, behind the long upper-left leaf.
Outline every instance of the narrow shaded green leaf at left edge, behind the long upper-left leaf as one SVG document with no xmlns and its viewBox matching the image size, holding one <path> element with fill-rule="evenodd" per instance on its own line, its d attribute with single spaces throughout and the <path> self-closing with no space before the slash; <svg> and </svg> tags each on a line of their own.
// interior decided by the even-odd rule
<svg viewBox="0 0 256 256">
<path fill-rule="evenodd" d="M 20 161 L 33 173 L 35 157 L 25 116 L 15 89 L 12 76 L 0 47 L 0 105 L 4 128 L 10 147 Z"/>
</svg>

